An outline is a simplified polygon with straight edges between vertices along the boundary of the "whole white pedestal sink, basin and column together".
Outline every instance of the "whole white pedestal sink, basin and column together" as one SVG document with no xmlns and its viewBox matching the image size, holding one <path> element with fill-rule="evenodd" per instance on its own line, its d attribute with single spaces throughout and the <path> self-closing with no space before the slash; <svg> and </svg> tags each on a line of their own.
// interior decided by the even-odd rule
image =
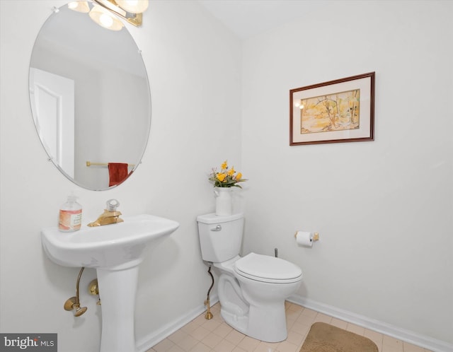
<svg viewBox="0 0 453 352">
<path fill-rule="evenodd" d="M 144 250 L 173 233 L 176 221 L 147 214 L 123 216 L 124 222 L 74 233 L 41 231 L 47 256 L 62 266 L 96 268 L 102 310 L 101 352 L 137 351 L 134 307 L 139 264 Z"/>
</svg>

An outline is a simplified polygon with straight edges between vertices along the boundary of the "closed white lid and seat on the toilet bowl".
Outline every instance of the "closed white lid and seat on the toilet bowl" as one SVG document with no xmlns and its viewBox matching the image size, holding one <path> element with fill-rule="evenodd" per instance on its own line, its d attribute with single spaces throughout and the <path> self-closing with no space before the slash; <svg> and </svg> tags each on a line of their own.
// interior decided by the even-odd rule
<svg viewBox="0 0 453 352">
<path fill-rule="evenodd" d="M 234 264 L 241 276 L 270 283 L 291 283 L 302 278 L 302 270 L 285 259 L 250 253 Z"/>
</svg>

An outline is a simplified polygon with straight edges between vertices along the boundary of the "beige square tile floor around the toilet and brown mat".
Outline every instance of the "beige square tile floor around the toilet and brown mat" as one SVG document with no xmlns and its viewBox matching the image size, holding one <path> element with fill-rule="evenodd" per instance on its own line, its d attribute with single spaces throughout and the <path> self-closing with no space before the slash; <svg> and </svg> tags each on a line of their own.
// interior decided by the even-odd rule
<svg viewBox="0 0 453 352">
<path fill-rule="evenodd" d="M 147 352 L 299 352 L 306 334 L 314 322 L 326 322 L 366 336 L 377 344 L 379 352 L 430 352 L 425 348 L 329 317 L 294 303 L 287 302 L 285 305 L 288 329 L 288 337 L 285 341 L 270 344 L 237 332 L 224 322 L 220 316 L 220 305 L 217 303 L 211 308 L 213 319 L 205 319 L 203 313 Z"/>
</svg>

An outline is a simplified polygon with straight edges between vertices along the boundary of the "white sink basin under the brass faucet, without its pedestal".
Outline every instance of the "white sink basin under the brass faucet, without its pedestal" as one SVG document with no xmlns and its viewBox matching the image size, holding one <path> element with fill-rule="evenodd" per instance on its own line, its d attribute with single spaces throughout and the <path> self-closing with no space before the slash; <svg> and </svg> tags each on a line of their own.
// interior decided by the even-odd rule
<svg viewBox="0 0 453 352">
<path fill-rule="evenodd" d="M 122 223 L 82 226 L 74 233 L 62 233 L 56 226 L 44 228 L 42 247 L 52 262 L 62 266 L 135 266 L 142 262 L 145 248 L 155 247 L 179 227 L 176 221 L 147 214 L 122 219 Z"/>
</svg>

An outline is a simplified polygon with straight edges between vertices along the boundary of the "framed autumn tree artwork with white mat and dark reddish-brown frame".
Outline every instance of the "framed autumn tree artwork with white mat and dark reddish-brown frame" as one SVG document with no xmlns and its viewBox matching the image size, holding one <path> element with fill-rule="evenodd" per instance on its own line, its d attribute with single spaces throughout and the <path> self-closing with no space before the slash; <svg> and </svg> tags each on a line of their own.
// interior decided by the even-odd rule
<svg viewBox="0 0 453 352">
<path fill-rule="evenodd" d="M 289 145 L 374 140 L 374 72 L 289 90 Z"/>
</svg>

